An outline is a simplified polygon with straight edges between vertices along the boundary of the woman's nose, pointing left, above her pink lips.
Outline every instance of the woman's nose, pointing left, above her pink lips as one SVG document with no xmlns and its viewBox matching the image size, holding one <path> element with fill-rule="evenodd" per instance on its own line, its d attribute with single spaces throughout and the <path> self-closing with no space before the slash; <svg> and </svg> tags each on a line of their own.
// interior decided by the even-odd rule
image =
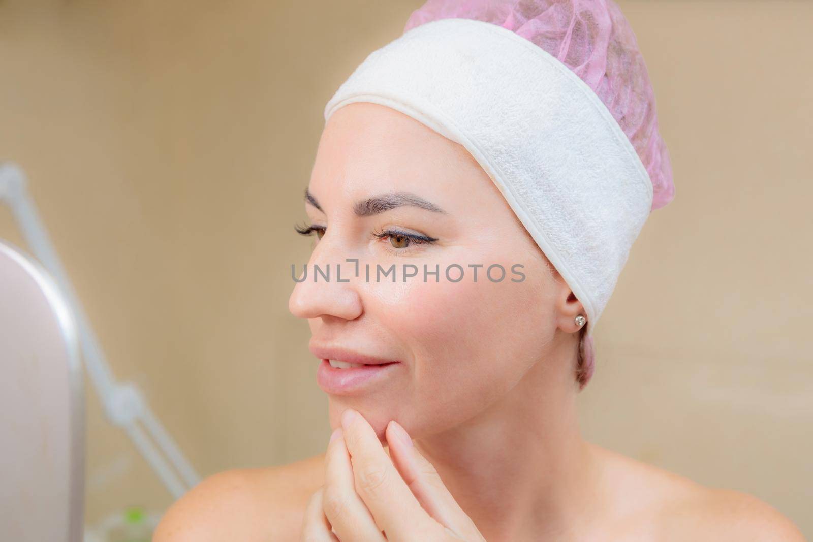
<svg viewBox="0 0 813 542">
<path fill-rule="evenodd" d="M 315 246 L 307 267 L 299 265 L 291 272 L 292 280 L 301 282 L 293 287 L 288 310 L 302 319 L 327 316 L 357 319 L 363 307 L 356 288 L 354 263 L 346 261 L 348 253 L 341 246 L 329 245 L 328 237 L 324 236 Z"/>
</svg>

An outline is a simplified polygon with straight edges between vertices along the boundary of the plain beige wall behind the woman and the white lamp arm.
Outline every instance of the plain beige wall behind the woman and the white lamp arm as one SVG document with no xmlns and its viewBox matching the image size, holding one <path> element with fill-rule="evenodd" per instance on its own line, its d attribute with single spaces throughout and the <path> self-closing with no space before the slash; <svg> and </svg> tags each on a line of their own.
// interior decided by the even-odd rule
<svg viewBox="0 0 813 542">
<path fill-rule="evenodd" d="M 203 475 L 324 450 L 293 223 L 324 102 L 419 5 L 0 0 L 0 159 L 27 171 L 116 375 Z M 620 5 L 676 198 L 597 327 L 585 436 L 813 536 L 813 4 Z M 22 244 L 2 207 L 0 237 Z M 170 502 L 92 393 L 87 496 L 90 522 Z"/>
</svg>

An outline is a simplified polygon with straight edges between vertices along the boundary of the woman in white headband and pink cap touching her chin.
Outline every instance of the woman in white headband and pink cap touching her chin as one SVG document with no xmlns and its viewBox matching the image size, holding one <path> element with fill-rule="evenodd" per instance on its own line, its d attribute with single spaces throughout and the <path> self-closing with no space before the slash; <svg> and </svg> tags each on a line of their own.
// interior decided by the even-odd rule
<svg viewBox="0 0 813 542">
<path fill-rule="evenodd" d="M 406 31 L 328 102 L 298 228 L 328 449 L 212 476 L 154 540 L 802 540 L 580 436 L 593 326 L 674 193 L 618 7 L 430 0 Z"/>
</svg>

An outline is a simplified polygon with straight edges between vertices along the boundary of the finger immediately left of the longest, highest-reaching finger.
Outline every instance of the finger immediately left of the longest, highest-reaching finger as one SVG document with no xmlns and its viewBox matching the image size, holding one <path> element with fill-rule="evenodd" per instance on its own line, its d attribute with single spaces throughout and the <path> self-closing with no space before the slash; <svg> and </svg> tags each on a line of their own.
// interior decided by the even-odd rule
<svg viewBox="0 0 813 542">
<path fill-rule="evenodd" d="M 385 540 L 370 510 L 355 491 L 353 466 L 347 452 L 341 427 L 333 431 L 324 456 L 324 515 L 340 540 Z"/>
</svg>

